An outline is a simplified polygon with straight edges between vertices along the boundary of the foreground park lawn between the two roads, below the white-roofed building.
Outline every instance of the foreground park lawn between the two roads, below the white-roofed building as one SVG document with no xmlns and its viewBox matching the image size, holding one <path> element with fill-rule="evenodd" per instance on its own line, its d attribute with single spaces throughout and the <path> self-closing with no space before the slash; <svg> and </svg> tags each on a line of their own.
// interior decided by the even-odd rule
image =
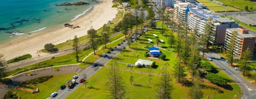
<svg viewBox="0 0 256 99">
<path fill-rule="evenodd" d="M 91 78 L 88 79 L 89 82 L 89 87 L 92 87 L 91 89 L 89 88 L 84 88 L 83 86 L 78 87 L 77 90 L 75 90 L 73 93 L 71 93 L 67 99 L 107 99 L 109 98 L 108 95 L 109 93 L 107 93 L 104 90 L 104 84 L 107 82 L 106 79 L 106 74 L 107 74 L 107 67 L 102 67 L 97 73 L 95 73 Z M 127 95 L 127 97 L 129 99 L 155 99 L 156 96 L 156 84 L 158 83 L 159 77 L 158 75 L 154 75 L 152 76 L 152 80 L 151 83 L 149 84 L 149 76 L 148 74 L 144 74 L 144 73 L 133 73 L 134 76 L 134 82 L 133 84 L 137 84 L 139 86 L 134 86 L 131 85 L 131 83 L 129 82 L 129 77 L 130 77 L 130 72 L 128 71 L 122 71 L 122 74 L 124 75 L 124 81 L 126 83 L 127 88 L 129 89 L 129 94 Z M 203 84 L 207 84 L 208 86 L 210 86 L 210 88 L 206 88 L 203 89 L 204 92 L 204 98 L 206 98 L 207 96 L 213 97 L 214 95 L 214 89 L 217 86 L 213 85 L 213 84 L 208 84 L 208 83 L 203 83 Z M 183 84 L 179 84 L 176 83 L 175 79 L 173 79 L 173 99 L 188 99 L 189 95 L 188 95 L 188 90 L 189 87 L 184 86 Z M 238 88 L 239 86 L 236 84 L 231 84 L 230 85 L 230 90 L 226 90 L 224 88 L 221 87 L 217 87 L 218 89 L 220 89 L 221 91 L 223 91 L 223 93 L 218 93 L 216 92 L 216 99 L 234 99 L 234 98 L 238 98 L 241 94 L 238 94 Z M 100 94 L 99 94 L 100 93 Z M 234 96 L 236 95 L 236 97 Z"/>
</svg>

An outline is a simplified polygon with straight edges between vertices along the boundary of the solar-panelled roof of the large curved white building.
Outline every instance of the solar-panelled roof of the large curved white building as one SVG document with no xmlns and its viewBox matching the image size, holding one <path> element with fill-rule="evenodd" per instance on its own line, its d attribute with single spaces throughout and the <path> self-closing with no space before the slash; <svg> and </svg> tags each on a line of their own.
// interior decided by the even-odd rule
<svg viewBox="0 0 256 99">
<path fill-rule="evenodd" d="M 216 15 L 211 15 L 210 13 L 208 13 L 208 12 L 205 12 L 205 10 L 204 9 L 192 9 L 192 8 L 189 8 L 189 10 L 193 13 L 193 14 L 195 14 L 195 15 L 197 15 L 197 16 L 199 16 L 199 17 L 202 17 L 202 18 L 205 18 L 205 19 L 208 19 L 208 17 L 212 17 L 212 18 L 220 18 L 219 16 L 216 16 Z"/>
</svg>

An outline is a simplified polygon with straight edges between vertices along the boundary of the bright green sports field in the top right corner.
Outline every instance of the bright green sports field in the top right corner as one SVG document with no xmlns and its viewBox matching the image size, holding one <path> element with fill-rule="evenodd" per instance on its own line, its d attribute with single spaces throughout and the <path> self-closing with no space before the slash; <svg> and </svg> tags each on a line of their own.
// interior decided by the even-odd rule
<svg viewBox="0 0 256 99">
<path fill-rule="evenodd" d="M 246 1 L 246 0 L 217 0 L 219 2 L 225 3 L 231 6 L 238 6 L 241 9 L 244 9 L 245 6 L 248 6 L 248 9 L 253 8 L 252 10 L 256 10 L 256 2 Z"/>
</svg>

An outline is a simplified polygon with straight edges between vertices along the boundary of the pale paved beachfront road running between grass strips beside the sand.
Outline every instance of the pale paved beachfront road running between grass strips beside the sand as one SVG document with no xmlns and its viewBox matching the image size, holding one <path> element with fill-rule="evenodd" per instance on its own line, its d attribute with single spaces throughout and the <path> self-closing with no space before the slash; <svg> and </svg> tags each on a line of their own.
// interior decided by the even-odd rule
<svg viewBox="0 0 256 99">
<path fill-rule="evenodd" d="M 81 45 L 80 49 L 83 49 L 87 45 L 88 44 Z M 72 48 L 69 48 L 69 49 L 61 50 L 61 51 L 53 53 L 53 54 L 48 54 L 48 55 L 43 55 L 43 56 L 36 57 L 36 58 L 26 59 L 26 60 L 19 61 L 19 62 L 13 63 L 13 64 L 8 64 L 8 67 L 6 67 L 6 69 L 7 70 L 15 70 L 17 68 L 21 68 L 21 67 L 28 66 L 28 65 L 31 65 L 31 64 L 36 64 L 40 61 L 45 61 L 45 60 L 51 59 L 53 57 L 66 55 L 66 54 L 71 53 L 71 52 L 74 52 L 74 50 L 72 50 Z"/>
</svg>

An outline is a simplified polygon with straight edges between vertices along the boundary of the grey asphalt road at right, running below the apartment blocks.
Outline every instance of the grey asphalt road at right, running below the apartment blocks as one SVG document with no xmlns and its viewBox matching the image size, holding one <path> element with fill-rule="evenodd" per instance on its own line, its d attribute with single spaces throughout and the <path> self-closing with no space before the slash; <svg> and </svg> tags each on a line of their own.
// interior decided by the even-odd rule
<svg viewBox="0 0 256 99">
<path fill-rule="evenodd" d="M 240 99 L 256 99 L 256 86 L 248 82 L 246 79 L 244 79 L 244 77 L 240 76 L 241 71 L 229 67 L 225 61 L 220 59 L 220 55 L 216 53 L 206 53 L 206 55 L 212 58 L 213 61 L 211 62 L 213 64 L 223 70 L 241 87 L 243 94 Z"/>
</svg>

